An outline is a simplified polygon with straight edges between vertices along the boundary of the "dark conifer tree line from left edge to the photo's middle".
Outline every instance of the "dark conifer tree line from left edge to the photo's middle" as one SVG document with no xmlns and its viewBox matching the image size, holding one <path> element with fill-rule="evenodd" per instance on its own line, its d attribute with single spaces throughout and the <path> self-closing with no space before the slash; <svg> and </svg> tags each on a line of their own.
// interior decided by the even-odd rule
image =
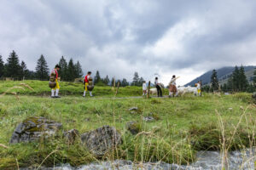
<svg viewBox="0 0 256 170">
<path fill-rule="evenodd" d="M 61 67 L 59 75 L 62 81 L 73 82 L 76 78 L 83 77 L 84 73 L 82 71 L 82 65 L 79 63 L 79 60 L 74 63 L 73 59 L 67 60 L 64 56 L 61 56 L 61 59 L 58 63 Z M 14 80 L 49 80 L 49 66 L 43 54 L 39 57 L 35 71 L 29 71 L 26 68 L 25 61 L 19 59 L 18 54 L 13 50 L 7 59 L 7 62 L 3 62 L 3 57 L 0 55 L 0 78 L 9 77 Z M 94 82 L 98 86 L 117 86 L 119 83 L 120 87 L 125 86 L 142 86 L 143 77 L 139 77 L 138 73 L 134 73 L 133 81 L 130 83 L 127 79 L 115 79 L 114 77 L 110 80 L 108 75 L 107 77 L 102 78 L 100 72 L 96 71 L 96 76 L 94 77 Z"/>
</svg>

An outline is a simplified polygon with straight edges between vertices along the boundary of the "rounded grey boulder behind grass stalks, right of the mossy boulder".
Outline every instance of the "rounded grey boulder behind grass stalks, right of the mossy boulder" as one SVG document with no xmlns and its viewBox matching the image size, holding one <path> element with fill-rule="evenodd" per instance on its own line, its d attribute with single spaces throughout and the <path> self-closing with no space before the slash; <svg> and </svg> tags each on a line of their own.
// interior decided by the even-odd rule
<svg viewBox="0 0 256 170">
<path fill-rule="evenodd" d="M 81 135 L 85 146 L 95 156 L 104 156 L 119 144 L 122 144 L 121 135 L 114 127 L 103 126 Z"/>
</svg>

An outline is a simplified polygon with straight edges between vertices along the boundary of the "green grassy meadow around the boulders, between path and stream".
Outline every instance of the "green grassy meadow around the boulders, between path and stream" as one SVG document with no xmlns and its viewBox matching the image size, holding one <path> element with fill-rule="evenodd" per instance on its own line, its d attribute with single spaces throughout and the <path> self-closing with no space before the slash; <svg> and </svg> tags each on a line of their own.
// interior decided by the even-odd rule
<svg viewBox="0 0 256 170">
<path fill-rule="evenodd" d="M 13 83 L 9 82 L 9 87 Z M 113 159 L 189 164 L 195 161 L 197 150 L 238 150 L 255 145 L 256 108 L 250 94 L 204 94 L 201 98 L 189 94 L 172 99 L 84 99 L 67 95 L 50 99 L 31 96 L 48 92 L 44 87 L 47 82 L 27 83 L 35 92 L 27 92 L 29 95 L 21 95 L 20 99 L 11 95 L 0 97 L 0 144 L 9 146 L 8 149 L 0 147 L 0 169 L 14 169 L 17 164 L 38 167 L 42 162 L 44 166 L 66 162 L 78 166 Z M 64 84 L 68 88 L 64 88 Z M 76 89 L 77 95 L 82 88 L 81 85 L 73 88 L 74 85 L 67 82 L 61 86 L 66 92 Z M 140 94 L 137 88 L 121 90 L 123 95 Z M 128 111 L 134 106 L 139 111 Z M 150 114 L 155 120 L 145 122 L 143 117 Z M 15 127 L 29 116 L 44 116 L 61 122 L 65 131 L 76 128 L 80 133 L 110 125 L 122 134 L 123 144 L 103 158 L 92 156 L 79 140 L 70 146 L 62 138 L 9 145 Z M 132 135 L 126 130 L 126 123 L 130 121 L 137 122 L 141 133 Z M 54 154 L 49 155 L 52 151 Z"/>
</svg>

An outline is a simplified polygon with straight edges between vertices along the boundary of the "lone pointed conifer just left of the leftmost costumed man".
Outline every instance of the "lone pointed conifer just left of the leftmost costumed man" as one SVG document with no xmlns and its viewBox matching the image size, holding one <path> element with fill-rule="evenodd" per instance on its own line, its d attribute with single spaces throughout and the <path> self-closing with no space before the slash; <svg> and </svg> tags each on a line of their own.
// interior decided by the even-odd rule
<svg viewBox="0 0 256 170">
<path fill-rule="evenodd" d="M 49 79 L 49 68 L 46 60 L 44 59 L 44 55 L 42 54 L 38 59 L 37 67 L 36 67 L 36 77 L 39 80 L 48 80 Z"/>
</svg>

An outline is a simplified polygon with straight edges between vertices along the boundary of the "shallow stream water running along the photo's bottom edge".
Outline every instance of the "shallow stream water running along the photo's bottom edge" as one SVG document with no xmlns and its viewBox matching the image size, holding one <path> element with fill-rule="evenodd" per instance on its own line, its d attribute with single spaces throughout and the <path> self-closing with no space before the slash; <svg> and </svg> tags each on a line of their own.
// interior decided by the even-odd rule
<svg viewBox="0 0 256 170">
<path fill-rule="evenodd" d="M 43 170 L 171 170 L 171 169 L 186 169 L 186 170 L 207 170 L 207 169 L 222 169 L 222 155 L 217 151 L 200 151 L 197 155 L 197 161 L 188 166 L 179 166 L 164 162 L 141 163 L 135 164 L 132 161 L 103 161 L 101 163 L 91 163 L 80 167 L 71 167 L 68 164 L 60 167 L 42 168 Z M 228 156 L 224 169 L 254 169 L 255 150 L 232 151 Z M 29 168 L 25 168 L 29 169 Z M 23 170 L 25 170 L 23 169 Z"/>
</svg>

